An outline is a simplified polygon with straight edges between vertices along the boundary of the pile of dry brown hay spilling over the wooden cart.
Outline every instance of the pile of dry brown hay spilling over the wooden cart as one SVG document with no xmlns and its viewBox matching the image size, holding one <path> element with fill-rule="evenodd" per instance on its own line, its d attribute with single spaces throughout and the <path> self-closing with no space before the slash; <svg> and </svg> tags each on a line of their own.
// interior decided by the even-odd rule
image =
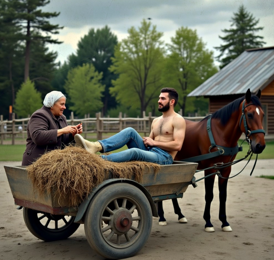
<svg viewBox="0 0 274 260">
<path fill-rule="evenodd" d="M 108 179 L 109 172 L 112 178 L 131 179 L 134 176 L 135 181 L 142 182 L 147 167 L 156 174 L 161 165 L 142 161 L 105 161 L 81 147 L 67 146 L 45 153 L 26 169 L 28 178 L 40 195 L 45 191 L 48 194 L 54 192 L 54 196 L 60 194 L 59 199 L 67 195 L 70 206 L 76 206 L 92 188 Z"/>
</svg>

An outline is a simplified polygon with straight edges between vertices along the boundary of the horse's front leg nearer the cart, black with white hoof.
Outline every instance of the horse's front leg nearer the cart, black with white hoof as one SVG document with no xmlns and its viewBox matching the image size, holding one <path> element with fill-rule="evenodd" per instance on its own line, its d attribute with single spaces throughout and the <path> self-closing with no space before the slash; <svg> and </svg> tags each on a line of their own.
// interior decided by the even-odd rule
<svg viewBox="0 0 274 260">
<path fill-rule="evenodd" d="M 206 174 L 207 175 L 207 174 Z M 213 185 L 214 185 L 215 175 L 205 178 L 205 189 L 206 189 L 206 206 L 204 212 L 204 219 L 206 221 L 205 231 L 206 232 L 214 232 L 214 227 L 210 222 L 210 205 L 213 200 Z"/>
</svg>

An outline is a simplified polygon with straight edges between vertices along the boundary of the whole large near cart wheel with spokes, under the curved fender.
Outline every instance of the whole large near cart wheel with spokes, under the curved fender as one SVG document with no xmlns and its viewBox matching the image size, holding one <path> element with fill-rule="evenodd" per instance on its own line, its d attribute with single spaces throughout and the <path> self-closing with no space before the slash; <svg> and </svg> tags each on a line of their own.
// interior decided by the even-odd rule
<svg viewBox="0 0 274 260">
<path fill-rule="evenodd" d="M 115 183 L 99 190 L 84 219 L 88 243 L 109 259 L 135 255 L 147 242 L 151 227 L 147 197 L 127 183 Z"/>
</svg>

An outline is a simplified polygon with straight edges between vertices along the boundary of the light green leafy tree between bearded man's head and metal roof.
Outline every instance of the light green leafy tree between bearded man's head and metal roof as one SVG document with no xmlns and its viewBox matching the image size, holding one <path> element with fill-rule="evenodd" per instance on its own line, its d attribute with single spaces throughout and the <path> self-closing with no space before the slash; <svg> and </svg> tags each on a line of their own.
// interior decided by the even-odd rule
<svg viewBox="0 0 274 260">
<path fill-rule="evenodd" d="M 198 112 L 201 108 L 194 106 L 197 99 L 187 95 L 217 72 L 213 52 L 206 49 L 196 30 L 187 27 L 179 28 L 175 37 L 171 37 L 171 42 L 162 81 L 166 87 L 174 87 L 178 91 L 177 110 L 181 108 L 183 115 L 195 110 Z"/>
</svg>

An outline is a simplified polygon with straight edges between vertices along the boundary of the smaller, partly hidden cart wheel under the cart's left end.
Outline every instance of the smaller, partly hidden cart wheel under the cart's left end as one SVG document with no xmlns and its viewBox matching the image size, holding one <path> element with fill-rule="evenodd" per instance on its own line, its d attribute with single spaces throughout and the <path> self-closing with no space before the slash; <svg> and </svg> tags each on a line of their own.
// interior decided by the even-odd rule
<svg viewBox="0 0 274 260">
<path fill-rule="evenodd" d="M 24 208 L 23 215 L 29 231 L 44 241 L 67 239 L 80 226 L 74 223 L 74 216 L 52 215 L 30 208 Z"/>
</svg>

